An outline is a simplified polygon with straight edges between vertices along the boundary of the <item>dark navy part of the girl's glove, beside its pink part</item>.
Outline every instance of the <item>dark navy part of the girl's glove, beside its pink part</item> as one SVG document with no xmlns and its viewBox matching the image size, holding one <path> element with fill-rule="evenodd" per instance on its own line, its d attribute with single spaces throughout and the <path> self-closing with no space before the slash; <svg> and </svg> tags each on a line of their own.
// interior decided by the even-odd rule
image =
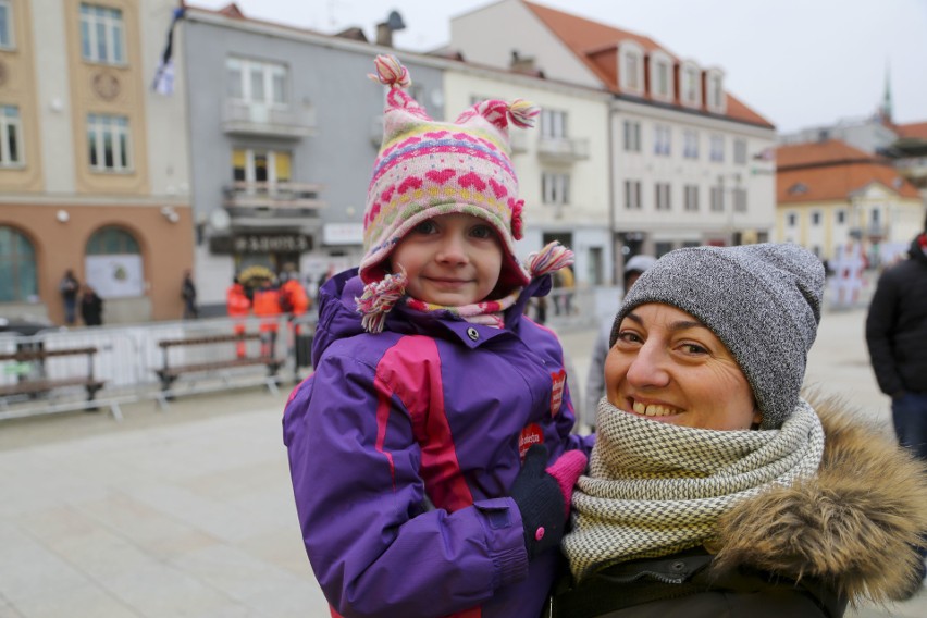
<svg viewBox="0 0 927 618">
<path fill-rule="evenodd" d="M 547 447 L 535 444 L 524 455 L 510 494 L 524 527 L 528 559 L 560 544 L 566 526 L 566 503 L 557 481 L 545 471 Z"/>
</svg>

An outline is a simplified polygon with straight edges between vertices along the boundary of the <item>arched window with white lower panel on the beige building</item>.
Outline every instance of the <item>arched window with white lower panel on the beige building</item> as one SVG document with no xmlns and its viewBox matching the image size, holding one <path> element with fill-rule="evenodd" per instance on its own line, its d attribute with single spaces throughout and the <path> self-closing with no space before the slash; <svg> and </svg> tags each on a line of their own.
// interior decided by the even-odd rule
<svg viewBox="0 0 927 618">
<path fill-rule="evenodd" d="M 97 230 L 87 240 L 86 277 L 103 298 L 145 295 L 138 240 L 122 227 Z"/>
</svg>

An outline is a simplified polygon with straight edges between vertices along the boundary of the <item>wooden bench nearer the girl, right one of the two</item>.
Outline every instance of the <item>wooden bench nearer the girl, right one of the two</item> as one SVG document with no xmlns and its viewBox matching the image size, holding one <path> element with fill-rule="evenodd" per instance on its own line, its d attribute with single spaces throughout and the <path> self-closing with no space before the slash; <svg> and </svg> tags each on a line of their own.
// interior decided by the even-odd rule
<svg viewBox="0 0 927 618">
<path fill-rule="evenodd" d="M 158 378 L 161 380 L 161 393 L 158 396 L 158 400 L 162 406 L 164 406 L 168 399 L 173 398 L 172 385 L 174 381 L 176 381 L 184 374 L 217 372 L 221 373 L 230 369 L 237 369 L 240 367 L 252 367 L 256 364 L 263 364 L 267 367 L 268 375 L 264 382 L 268 385 L 268 388 L 272 393 L 276 394 L 277 388 L 275 376 L 277 370 L 283 364 L 283 360 L 274 358 L 272 356 L 245 356 L 231 359 L 217 359 L 207 362 L 189 362 L 186 364 L 174 366 L 172 366 L 170 362 L 170 350 L 172 348 L 228 343 L 237 344 L 251 339 L 260 339 L 260 333 L 242 333 L 230 335 L 202 335 L 176 339 L 163 339 L 158 342 L 158 347 L 161 348 L 163 359 L 161 368 L 154 370 L 154 372 L 158 374 Z M 224 376 L 223 380 L 227 383 L 227 375 Z"/>
</svg>

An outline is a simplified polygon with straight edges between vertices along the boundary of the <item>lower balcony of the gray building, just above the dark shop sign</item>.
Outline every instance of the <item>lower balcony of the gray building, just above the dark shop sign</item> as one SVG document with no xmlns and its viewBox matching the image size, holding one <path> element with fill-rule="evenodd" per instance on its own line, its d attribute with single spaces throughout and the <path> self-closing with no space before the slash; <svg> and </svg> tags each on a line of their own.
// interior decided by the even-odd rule
<svg viewBox="0 0 927 618">
<path fill-rule="evenodd" d="M 322 185 L 301 183 L 233 183 L 223 187 L 223 206 L 233 225 L 300 224 L 317 219 L 325 202 Z"/>
</svg>

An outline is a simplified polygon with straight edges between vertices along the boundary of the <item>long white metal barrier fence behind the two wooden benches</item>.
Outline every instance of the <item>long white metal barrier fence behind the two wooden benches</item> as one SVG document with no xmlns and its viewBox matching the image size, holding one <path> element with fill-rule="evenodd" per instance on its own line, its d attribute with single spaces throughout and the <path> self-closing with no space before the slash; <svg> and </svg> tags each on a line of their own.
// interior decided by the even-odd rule
<svg viewBox="0 0 927 618">
<path fill-rule="evenodd" d="M 157 399 L 161 407 L 174 396 L 203 393 L 230 387 L 244 387 L 265 384 L 275 393 L 276 384 L 283 374 L 292 372 L 293 379 L 299 378 L 300 362 L 297 362 L 297 337 L 293 325 L 298 324 L 302 333 L 302 358 L 307 364 L 306 337 L 311 338 L 314 331 L 314 316 L 289 321 L 286 316 L 267 321 L 258 318 L 232 320 L 228 318 L 187 320 L 176 322 L 154 322 L 125 326 L 96 326 L 86 329 L 57 329 L 42 331 L 32 336 L 0 335 L 0 420 L 22 418 L 42 413 L 69 410 L 94 410 L 108 406 L 116 420 L 122 419 L 120 404 L 143 399 Z M 235 359 L 239 354 L 238 342 L 223 341 L 209 345 L 161 346 L 168 339 L 219 338 L 220 335 L 234 335 L 236 332 L 260 333 L 261 338 L 248 338 L 244 344 L 244 354 L 250 358 L 263 357 L 261 346 L 269 346 L 275 339 L 269 355 L 279 367 L 275 375 L 268 375 L 264 363 L 219 369 L 217 360 Z M 273 336 L 275 333 L 275 336 Z M 70 350 L 95 348 L 89 355 L 33 355 L 32 360 L 20 350 Z M 263 351 L 268 351 L 264 347 Z M 33 358 L 36 357 L 36 358 Z M 89 363 L 89 367 L 88 367 Z M 212 366 L 201 371 L 190 371 L 163 388 L 158 371 L 170 363 L 171 367 Z M 102 382 L 98 395 L 88 400 L 86 390 L 82 390 L 76 376 L 90 374 Z M 26 381 L 44 380 L 60 386 L 37 390 L 34 393 L 18 393 Z M 69 382 L 74 384 L 65 384 Z M 5 387 L 5 388 L 4 388 Z"/>
</svg>

